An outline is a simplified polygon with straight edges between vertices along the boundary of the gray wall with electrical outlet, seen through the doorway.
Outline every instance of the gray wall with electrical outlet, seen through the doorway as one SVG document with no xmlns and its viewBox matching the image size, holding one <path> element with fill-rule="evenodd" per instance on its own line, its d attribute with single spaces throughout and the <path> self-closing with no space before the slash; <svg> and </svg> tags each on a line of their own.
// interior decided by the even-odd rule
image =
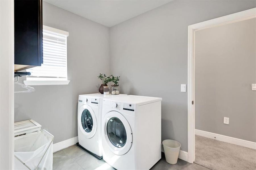
<svg viewBox="0 0 256 170">
<path fill-rule="evenodd" d="M 256 142 L 256 18 L 195 33 L 195 128 Z M 223 117 L 229 117 L 229 125 Z"/>
</svg>

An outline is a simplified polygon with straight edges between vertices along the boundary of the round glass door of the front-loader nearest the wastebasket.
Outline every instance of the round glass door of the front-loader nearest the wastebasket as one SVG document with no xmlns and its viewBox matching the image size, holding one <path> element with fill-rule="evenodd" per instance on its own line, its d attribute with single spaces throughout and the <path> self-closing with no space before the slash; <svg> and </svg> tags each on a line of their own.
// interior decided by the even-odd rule
<svg viewBox="0 0 256 170">
<path fill-rule="evenodd" d="M 110 150 L 116 155 L 126 154 L 132 147 L 132 129 L 119 112 L 111 111 L 104 117 L 104 136 Z"/>
</svg>

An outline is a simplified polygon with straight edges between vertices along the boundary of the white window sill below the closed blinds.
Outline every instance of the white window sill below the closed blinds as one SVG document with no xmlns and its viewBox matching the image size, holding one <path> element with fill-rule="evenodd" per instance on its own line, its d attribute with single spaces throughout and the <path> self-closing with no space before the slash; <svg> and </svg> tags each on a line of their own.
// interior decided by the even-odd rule
<svg viewBox="0 0 256 170">
<path fill-rule="evenodd" d="M 70 80 L 24 80 L 26 86 L 38 86 L 38 85 L 67 85 Z"/>
</svg>

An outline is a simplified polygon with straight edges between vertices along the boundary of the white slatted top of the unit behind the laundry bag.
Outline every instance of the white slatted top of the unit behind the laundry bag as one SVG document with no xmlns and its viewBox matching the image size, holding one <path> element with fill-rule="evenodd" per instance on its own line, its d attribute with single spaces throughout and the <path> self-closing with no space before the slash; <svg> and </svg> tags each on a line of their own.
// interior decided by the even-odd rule
<svg viewBox="0 0 256 170">
<path fill-rule="evenodd" d="M 41 125 L 32 119 L 14 123 L 14 136 L 39 133 L 40 131 Z"/>
</svg>

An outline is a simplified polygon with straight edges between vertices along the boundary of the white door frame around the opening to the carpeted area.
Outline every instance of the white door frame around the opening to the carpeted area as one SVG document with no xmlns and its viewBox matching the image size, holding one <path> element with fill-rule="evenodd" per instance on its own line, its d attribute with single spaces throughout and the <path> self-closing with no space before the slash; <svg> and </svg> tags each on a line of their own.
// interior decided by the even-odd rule
<svg viewBox="0 0 256 170">
<path fill-rule="evenodd" d="M 256 18 L 256 8 L 188 26 L 188 162 L 195 161 L 195 31 Z M 192 101 L 194 104 L 192 105 Z"/>
</svg>

